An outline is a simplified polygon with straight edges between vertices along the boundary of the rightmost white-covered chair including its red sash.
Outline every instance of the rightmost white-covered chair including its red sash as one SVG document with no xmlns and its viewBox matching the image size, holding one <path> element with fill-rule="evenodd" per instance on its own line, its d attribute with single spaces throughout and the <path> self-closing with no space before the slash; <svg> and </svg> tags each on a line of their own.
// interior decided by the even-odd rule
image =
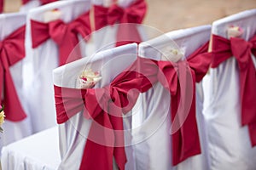
<svg viewBox="0 0 256 170">
<path fill-rule="evenodd" d="M 240 56 L 239 53 L 247 54 L 245 50 L 250 51 L 253 48 L 253 46 L 245 48 L 241 42 L 247 43 L 251 41 L 252 37 L 255 37 L 255 16 L 256 10 L 252 9 L 212 23 L 213 59 L 210 74 L 204 80 L 206 103 L 203 112 L 209 132 L 208 150 L 211 169 L 228 169 L 230 167 L 237 170 L 255 169 L 256 148 L 253 147 L 255 133 L 252 133 L 248 128 L 255 123 L 253 123 L 252 117 L 247 120 L 244 117 L 255 116 L 255 107 L 249 108 L 249 106 L 255 105 L 256 100 L 254 98 L 251 104 L 247 101 L 249 106 L 246 106 L 247 111 L 244 112 L 242 111 L 244 106 L 241 105 L 244 99 L 240 94 L 242 90 L 248 90 L 247 92 L 252 96 L 256 94 L 253 89 L 241 88 L 244 86 L 241 81 L 241 64 L 236 59 Z M 230 26 L 239 26 L 243 31 L 241 37 L 232 37 L 229 40 L 227 31 Z M 226 44 L 230 44 L 230 46 L 226 46 Z M 236 45 L 239 47 L 234 48 Z M 231 47 L 232 50 L 227 47 Z M 232 57 L 233 55 L 235 57 Z M 249 62 L 250 57 L 247 56 L 244 59 L 248 62 L 246 67 L 253 69 L 253 63 Z M 255 58 L 254 72 L 251 74 L 249 71 L 247 72 L 247 80 L 255 81 Z M 250 84 L 253 85 L 253 82 L 248 82 L 249 86 Z M 253 99 L 249 97 L 249 94 L 243 96 L 246 99 Z M 248 111 L 253 111 L 253 113 L 250 114 Z M 251 135 L 249 135 L 250 133 Z"/>
</svg>

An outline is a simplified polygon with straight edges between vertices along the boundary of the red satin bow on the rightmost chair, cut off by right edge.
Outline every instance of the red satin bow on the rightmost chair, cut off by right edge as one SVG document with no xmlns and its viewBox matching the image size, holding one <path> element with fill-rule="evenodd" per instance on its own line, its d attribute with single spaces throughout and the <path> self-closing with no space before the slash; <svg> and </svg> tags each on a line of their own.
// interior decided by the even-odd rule
<svg viewBox="0 0 256 170">
<path fill-rule="evenodd" d="M 239 68 L 241 125 L 248 125 L 251 143 L 256 145 L 256 70 L 251 54 L 256 56 L 256 36 L 249 42 L 231 37 L 230 40 L 212 35 L 212 68 L 234 56 Z"/>
</svg>

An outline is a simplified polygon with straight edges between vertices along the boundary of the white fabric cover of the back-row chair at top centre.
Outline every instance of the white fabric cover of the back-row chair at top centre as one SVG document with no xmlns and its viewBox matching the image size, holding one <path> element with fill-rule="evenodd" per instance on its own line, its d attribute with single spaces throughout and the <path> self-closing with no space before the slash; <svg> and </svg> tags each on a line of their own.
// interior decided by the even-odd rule
<svg viewBox="0 0 256 170">
<path fill-rule="evenodd" d="M 128 7 L 131 3 L 135 2 L 135 0 L 117 0 L 118 4 L 122 8 Z M 109 7 L 113 4 L 113 0 L 92 0 L 94 5 L 100 5 L 103 7 Z M 145 31 L 143 30 L 143 26 L 137 26 L 138 32 L 142 37 L 142 40 L 145 41 L 146 35 Z M 106 26 L 100 30 L 93 32 L 92 34 L 92 42 L 94 44 L 94 49 L 107 49 L 107 48 L 114 48 L 116 42 L 116 35 L 117 35 L 118 25 L 114 26 Z"/>
</svg>

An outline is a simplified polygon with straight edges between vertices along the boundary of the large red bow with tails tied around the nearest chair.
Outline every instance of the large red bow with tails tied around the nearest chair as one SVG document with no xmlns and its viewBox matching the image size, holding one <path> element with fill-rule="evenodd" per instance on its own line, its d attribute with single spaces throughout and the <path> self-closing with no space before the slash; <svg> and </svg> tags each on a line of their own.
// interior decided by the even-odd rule
<svg viewBox="0 0 256 170">
<path fill-rule="evenodd" d="M 143 67 L 148 69 L 138 73 L 137 68 Z M 66 122 L 79 111 L 84 111 L 85 118 L 93 119 L 80 169 L 112 170 L 113 157 L 119 169 L 125 169 L 122 113 L 131 111 L 138 94 L 157 82 L 156 74 L 153 75 L 157 70 L 156 62 L 138 58 L 127 71 L 115 77 L 109 87 L 74 89 L 55 86 L 58 123 Z"/>
</svg>

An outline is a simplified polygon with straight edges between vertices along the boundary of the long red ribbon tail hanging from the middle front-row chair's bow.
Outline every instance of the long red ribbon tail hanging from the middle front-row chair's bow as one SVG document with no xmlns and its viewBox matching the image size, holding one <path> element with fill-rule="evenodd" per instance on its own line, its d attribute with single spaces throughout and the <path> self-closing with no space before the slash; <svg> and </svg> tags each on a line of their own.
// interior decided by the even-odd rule
<svg viewBox="0 0 256 170">
<path fill-rule="evenodd" d="M 201 153 L 195 118 L 195 74 L 179 64 L 177 94 L 172 95 L 172 164 Z M 189 88 L 191 87 L 191 88 Z"/>
</svg>

